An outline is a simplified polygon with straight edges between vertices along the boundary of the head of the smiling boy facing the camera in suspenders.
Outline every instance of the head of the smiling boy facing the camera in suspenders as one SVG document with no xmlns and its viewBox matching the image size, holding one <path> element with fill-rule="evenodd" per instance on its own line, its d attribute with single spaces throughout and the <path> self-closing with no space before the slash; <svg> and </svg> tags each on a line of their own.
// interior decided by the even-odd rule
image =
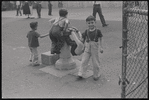
<svg viewBox="0 0 149 100">
<path fill-rule="evenodd" d="M 89 29 L 94 29 L 96 24 L 96 19 L 94 16 L 90 15 L 86 18 L 86 24 L 88 25 Z"/>
</svg>

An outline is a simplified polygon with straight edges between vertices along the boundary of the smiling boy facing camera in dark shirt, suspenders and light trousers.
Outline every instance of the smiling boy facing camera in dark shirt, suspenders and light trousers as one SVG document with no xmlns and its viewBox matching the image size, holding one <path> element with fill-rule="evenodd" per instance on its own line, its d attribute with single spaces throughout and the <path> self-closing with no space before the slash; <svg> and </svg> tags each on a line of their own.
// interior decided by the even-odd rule
<svg viewBox="0 0 149 100">
<path fill-rule="evenodd" d="M 85 50 L 82 56 L 81 67 L 78 72 L 78 80 L 83 79 L 83 74 L 87 69 L 89 59 L 92 57 L 93 64 L 93 79 L 96 81 L 99 78 L 100 61 L 98 56 L 98 49 L 103 53 L 102 49 L 102 33 L 96 28 L 95 17 L 89 16 L 86 19 L 88 29 L 82 34 L 83 42 L 85 42 Z"/>
</svg>

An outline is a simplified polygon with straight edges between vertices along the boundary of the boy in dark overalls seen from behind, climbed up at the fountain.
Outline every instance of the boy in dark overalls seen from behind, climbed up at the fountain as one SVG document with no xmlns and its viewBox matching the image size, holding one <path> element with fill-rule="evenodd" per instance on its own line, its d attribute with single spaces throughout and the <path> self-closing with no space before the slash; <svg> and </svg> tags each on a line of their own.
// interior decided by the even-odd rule
<svg viewBox="0 0 149 100">
<path fill-rule="evenodd" d="M 51 54 L 60 54 L 61 48 L 64 46 L 64 42 L 70 44 L 69 34 L 66 29 L 68 28 L 69 20 L 67 19 L 68 11 L 64 8 L 59 10 L 59 19 L 51 20 L 53 23 L 49 32 L 49 37 L 52 41 Z"/>
</svg>

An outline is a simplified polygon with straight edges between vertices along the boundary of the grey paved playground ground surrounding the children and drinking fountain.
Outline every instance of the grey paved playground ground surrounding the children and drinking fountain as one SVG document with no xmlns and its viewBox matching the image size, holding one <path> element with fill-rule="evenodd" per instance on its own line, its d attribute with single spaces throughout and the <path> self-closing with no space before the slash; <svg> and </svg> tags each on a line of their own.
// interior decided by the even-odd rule
<svg viewBox="0 0 149 100">
<path fill-rule="evenodd" d="M 62 78 L 45 73 L 29 63 L 30 51 L 26 34 L 30 30 L 29 23 L 38 21 L 37 31 L 45 34 L 49 31 L 48 20 L 58 17 L 58 9 L 53 9 L 53 16 L 48 16 L 48 9 L 42 9 L 42 18 L 26 19 L 27 16 L 15 16 L 16 11 L 2 12 L 2 98 L 120 98 L 121 86 L 118 75 L 121 75 L 122 45 L 122 10 L 102 9 L 108 27 L 102 27 L 97 15 L 97 27 L 101 29 L 104 40 L 104 53 L 100 54 L 101 78 L 94 81 L 89 77 L 76 81 L 76 76 L 67 75 Z M 92 8 L 69 9 L 68 15 L 72 26 L 83 32 L 87 27 L 85 19 L 92 14 Z M 40 54 L 50 50 L 50 39 L 39 39 Z M 76 57 L 80 59 L 80 57 Z M 40 60 L 41 61 L 41 60 Z"/>
</svg>

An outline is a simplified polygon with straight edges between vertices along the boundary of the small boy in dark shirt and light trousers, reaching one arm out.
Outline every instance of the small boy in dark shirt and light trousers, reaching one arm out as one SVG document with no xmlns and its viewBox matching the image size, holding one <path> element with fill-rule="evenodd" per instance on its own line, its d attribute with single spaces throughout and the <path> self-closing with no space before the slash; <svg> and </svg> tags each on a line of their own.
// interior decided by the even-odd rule
<svg viewBox="0 0 149 100">
<path fill-rule="evenodd" d="M 39 33 L 36 32 L 38 26 L 38 22 L 31 22 L 30 27 L 31 31 L 28 32 L 27 38 L 28 38 L 28 46 L 31 51 L 30 55 L 30 62 L 32 62 L 33 66 L 39 66 L 40 64 L 38 63 L 38 52 L 37 52 L 37 47 L 39 47 L 39 42 L 38 38 L 43 38 L 49 35 L 45 34 L 41 36 Z"/>
</svg>

